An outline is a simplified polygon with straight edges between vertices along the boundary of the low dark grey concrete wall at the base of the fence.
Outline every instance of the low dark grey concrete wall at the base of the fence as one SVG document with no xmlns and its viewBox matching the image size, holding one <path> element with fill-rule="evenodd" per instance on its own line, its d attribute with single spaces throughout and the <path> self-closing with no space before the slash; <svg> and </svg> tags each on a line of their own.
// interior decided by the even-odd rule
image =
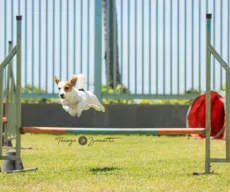
<svg viewBox="0 0 230 192">
<path fill-rule="evenodd" d="M 84 111 L 71 117 L 60 104 L 22 104 L 22 126 L 186 127 L 188 106 L 107 105 L 106 112 Z"/>
</svg>

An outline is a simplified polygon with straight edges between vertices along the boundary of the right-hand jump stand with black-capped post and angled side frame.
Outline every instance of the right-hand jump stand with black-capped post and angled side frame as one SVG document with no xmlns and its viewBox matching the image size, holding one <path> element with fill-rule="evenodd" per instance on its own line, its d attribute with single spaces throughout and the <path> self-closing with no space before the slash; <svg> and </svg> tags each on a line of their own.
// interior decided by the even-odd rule
<svg viewBox="0 0 230 192">
<path fill-rule="evenodd" d="M 206 14 L 206 143 L 205 143 L 205 174 L 212 173 L 210 167 L 211 162 L 230 163 L 230 68 L 229 65 L 221 58 L 215 48 L 211 45 L 211 19 L 212 14 Z M 226 72 L 226 157 L 211 158 L 211 108 L 210 108 L 210 93 L 211 93 L 211 55 L 219 62 Z"/>
</svg>

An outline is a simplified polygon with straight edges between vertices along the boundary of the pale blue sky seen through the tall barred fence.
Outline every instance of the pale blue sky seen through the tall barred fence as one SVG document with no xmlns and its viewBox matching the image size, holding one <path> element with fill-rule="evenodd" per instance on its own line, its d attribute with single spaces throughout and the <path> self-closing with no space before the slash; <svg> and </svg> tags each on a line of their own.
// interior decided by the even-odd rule
<svg viewBox="0 0 230 192">
<path fill-rule="evenodd" d="M 5 5 L 6 2 L 6 5 Z M 12 4 L 13 2 L 13 4 Z M 25 3 L 27 2 L 27 12 L 25 10 Z M 31 0 L 12 0 L 12 1 L 0 1 L 0 60 L 3 60 L 4 55 L 7 52 L 6 42 L 13 40 L 15 44 L 15 15 L 19 12 L 23 16 L 22 23 L 22 46 L 23 46 L 23 84 L 34 83 L 39 85 L 43 89 L 47 89 L 48 92 L 56 91 L 53 85 L 53 75 L 62 79 L 68 79 L 74 73 L 83 72 L 86 74 L 86 80 L 89 84 L 89 89 L 93 90 L 94 85 L 94 0 L 81 0 L 75 1 L 75 13 L 74 13 L 74 0 L 62 1 L 60 9 L 60 1 L 47 1 L 48 8 L 46 11 L 46 0 L 41 0 L 41 9 L 39 9 L 39 1 L 34 0 L 34 11 L 32 10 Z M 68 2 L 68 10 L 67 10 Z M 89 14 L 88 14 L 88 2 L 89 2 Z M 123 39 L 121 39 L 121 2 L 123 3 Z M 158 93 L 168 94 L 172 90 L 172 93 L 176 94 L 177 91 L 183 92 L 185 89 L 191 89 L 199 87 L 199 78 L 201 77 L 201 88 L 205 88 L 205 13 L 206 2 L 204 0 L 179 0 L 179 9 L 177 0 L 158 0 L 158 72 L 156 72 L 156 1 L 151 0 L 151 25 L 149 23 L 149 0 L 137 0 L 137 41 L 135 44 L 135 0 L 130 0 L 130 34 L 128 34 L 128 1 L 118 0 L 117 5 L 117 18 L 118 18 L 118 46 L 119 49 L 123 49 L 121 69 L 123 83 L 128 86 L 130 83 L 130 89 L 132 92 L 137 93 L 149 93 L 149 86 L 151 86 L 151 93 L 157 93 L 156 78 L 158 77 Z M 144 5 L 142 5 L 144 2 Z M 163 23 L 163 2 L 165 2 L 165 35 L 164 23 Z M 172 2 L 172 5 L 171 5 Z M 186 11 L 185 11 L 185 4 Z M 194 3 L 192 5 L 192 2 Z M 221 7 L 221 2 L 222 7 Z M 20 8 L 19 4 L 20 3 Z M 209 12 L 214 14 L 212 20 L 212 36 L 215 36 L 215 41 L 212 39 L 213 46 L 220 52 L 223 58 L 229 61 L 228 50 L 228 1 L 211 0 L 208 1 Z M 200 6 L 200 9 L 199 9 Z M 6 12 L 5 12 L 6 7 Z M 215 7 L 215 9 L 214 9 Z M 82 8 L 82 12 L 81 12 Z M 193 14 L 192 14 L 192 8 Z M 222 9 L 222 10 L 221 10 Z M 41 10 L 41 11 L 40 11 Z M 142 10 L 144 10 L 144 22 L 142 23 Z M 170 12 L 172 10 L 172 13 Z M 81 13 L 82 13 L 82 30 L 81 30 Z M 179 13 L 179 20 L 178 20 Z M 194 15 L 192 20 L 192 15 Z M 6 16 L 6 19 L 4 19 Z M 75 16 L 75 20 L 74 20 Z M 171 17 L 172 16 L 172 17 Z M 184 18 L 187 18 L 186 26 L 184 25 Z M 34 17 L 34 23 L 33 21 Z M 88 25 L 89 17 L 89 25 Z M 221 21 L 222 17 L 222 22 Z M 39 18 L 41 22 L 39 23 Z M 46 21 L 48 19 L 48 23 Z M 60 18 L 62 21 L 61 27 L 61 39 L 60 39 Z M 25 19 L 27 19 L 27 36 L 25 32 Z M 53 29 L 53 19 L 55 21 Z M 67 25 L 68 19 L 68 25 Z M 6 28 L 4 21 L 6 20 Z M 13 21 L 13 23 L 12 23 Z M 75 21 L 75 23 L 74 23 Z M 170 23 L 172 21 L 172 31 Z M 179 21 L 179 23 L 178 23 Z M 192 22 L 193 21 L 193 22 Z M 200 23 L 199 23 L 200 21 Z M 192 23 L 194 30 L 192 31 Z M 33 25 L 34 24 L 34 25 Z M 39 24 L 41 28 L 39 30 Z M 143 24 L 143 25 L 142 25 Z M 48 29 L 46 31 L 46 27 Z M 89 26 L 89 33 L 88 33 Z M 144 28 L 142 28 L 144 26 Z M 199 26 L 201 27 L 199 29 Z M 33 28 L 34 27 L 34 28 Z M 151 27 L 151 41 L 149 39 L 149 30 Z M 74 29 L 75 34 L 74 34 Z M 178 30 L 179 29 L 179 30 Z M 185 36 L 186 33 L 186 55 L 185 50 Z M 41 35 L 39 35 L 39 31 Z M 34 32 L 34 33 L 32 33 Z M 144 37 L 144 43 L 142 45 L 142 32 Z M 199 36 L 200 32 L 200 36 Z M 46 37 L 47 33 L 47 37 Z M 68 33 L 68 35 L 67 35 Z M 178 36 L 179 34 L 179 36 Z M 193 36 L 192 36 L 193 34 Z M 6 40 L 4 37 L 6 36 Z M 26 38 L 27 37 L 27 38 Z M 82 37 L 82 45 L 81 45 Z M 89 38 L 88 38 L 89 37 Z M 129 37 L 129 38 L 128 38 Z M 75 42 L 74 42 L 75 38 Z M 103 38 L 103 34 L 102 34 Z M 172 41 L 170 40 L 172 38 Z M 53 42 L 54 39 L 54 42 Z M 40 41 L 39 41 L 40 40 Z M 200 41 L 199 41 L 200 40 Z M 41 42 L 41 43 L 39 43 Z M 60 44 L 61 42 L 61 44 Z M 170 44 L 172 42 L 172 45 Z M 192 43 L 193 42 L 193 43 Z M 200 42 L 200 43 L 199 43 Z M 27 44 L 26 44 L 27 43 Z M 53 44 L 54 43 L 54 44 Z M 129 44 L 130 43 L 130 44 Z M 179 43 L 179 44 L 178 44 Z M 130 46 L 130 81 L 128 81 L 128 44 Z M 149 44 L 151 45 L 151 53 L 149 53 Z M 25 46 L 27 45 L 27 47 Z M 54 47 L 53 47 L 54 45 Z M 61 46 L 60 46 L 61 45 Z M 89 48 L 88 48 L 89 45 Z M 135 48 L 136 45 L 136 48 Z M 179 45 L 179 46 L 178 46 Z M 40 46 L 40 47 L 39 47 Z M 102 43 L 104 50 L 104 43 Z M 60 49 L 61 47 L 61 49 Z M 81 51 L 82 47 L 82 51 Z M 144 48 L 143 61 L 142 61 L 142 47 Z M 27 48 L 27 49 L 26 49 Z M 46 52 L 46 49 L 48 52 Z M 41 50 L 41 58 L 39 57 L 39 50 Z M 136 50 L 136 57 L 135 57 Z M 74 52 L 75 51 L 75 52 Z M 26 53 L 26 54 L 25 54 Z M 47 53 L 47 54 L 46 54 Z M 54 53 L 54 55 L 53 55 Z M 60 57 L 61 53 L 61 57 Z M 89 55 L 88 55 L 89 53 Z M 103 51 L 104 53 L 104 51 Z M 151 55 L 151 62 L 149 61 L 149 54 Z M 34 58 L 32 56 L 34 55 Z M 74 57 L 75 55 L 75 57 Z M 103 54 L 104 55 L 104 54 Z M 105 65 L 102 55 L 102 74 L 103 83 L 105 83 Z M 119 52 L 119 56 L 121 53 Z M 40 59 L 39 59 L 40 58 Z M 53 59 L 54 58 L 54 59 Z M 61 60 L 60 60 L 61 58 Z M 135 77 L 135 58 L 137 59 L 137 77 Z M 185 71 L 185 58 L 187 71 Z M 47 63 L 46 63 L 47 61 Z M 199 61 L 201 65 L 201 71 L 199 76 Z M 121 57 L 119 59 L 121 63 Z M 27 78 L 25 65 L 27 63 Z M 68 63 L 68 71 L 67 69 Z M 81 66 L 82 63 L 82 66 Z M 179 63 L 179 64 L 178 64 Z M 194 76 L 192 78 L 192 63 L 194 64 Z M 33 65 L 34 64 L 34 65 Z M 165 72 L 163 65 L 165 64 Z M 34 72 L 32 71 L 32 65 L 34 66 Z M 53 65 L 55 69 L 53 70 Z M 170 70 L 172 65 L 172 71 Z M 46 70 L 48 66 L 48 70 Z M 90 70 L 87 70 L 87 67 Z M 149 72 L 151 66 L 151 71 Z M 220 65 L 216 62 L 214 78 L 214 89 L 219 89 L 222 79 L 222 84 L 225 81 L 225 75 L 220 76 Z M 81 71 L 82 68 L 82 71 Z M 39 72 L 40 69 L 40 72 Z M 74 71 L 75 69 L 75 71 Z M 142 72 L 143 70 L 143 72 Z M 88 73 L 89 72 L 89 73 Z M 144 76 L 142 76 L 144 74 Z M 164 76 L 165 74 L 165 80 Z M 173 75 L 171 77 L 171 74 Z M 150 76 L 149 76 L 150 75 Z M 157 76 L 158 75 L 158 76 Z M 40 77 L 40 82 L 39 82 Z M 179 78 L 178 78 L 179 77 Z M 185 80 L 186 77 L 186 87 Z M 222 78 L 221 78 L 222 77 Z M 142 80 L 144 80 L 142 82 Z M 172 80 L 172 81 L 171 81 Z M 193 80 L 193 81 L 192 81 Z M 135 85 L 137 81 L 138 86 Z M 151 84 L 149 83 L 151 82 Z M 142 88 L 142 84 L 144 87 Z M 172 85 L 172 88 L 170 87 Z M 178 87 L 179 85 L 179 87 Z"/>
</svg>

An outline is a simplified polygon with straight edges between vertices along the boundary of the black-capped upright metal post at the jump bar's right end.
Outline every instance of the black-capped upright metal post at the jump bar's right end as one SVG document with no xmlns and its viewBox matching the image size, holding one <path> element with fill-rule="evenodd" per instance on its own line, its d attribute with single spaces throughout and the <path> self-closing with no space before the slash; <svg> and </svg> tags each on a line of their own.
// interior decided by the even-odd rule
<svg viewBox="0 0 230 192">
<path fill-rule="evenodd" d="M 211 92 L 211 18 L 212 14 L 206 14 L 206 143 L 205 143 L 205 173 L 210 173 L 210 92 Z"/>
</svg>

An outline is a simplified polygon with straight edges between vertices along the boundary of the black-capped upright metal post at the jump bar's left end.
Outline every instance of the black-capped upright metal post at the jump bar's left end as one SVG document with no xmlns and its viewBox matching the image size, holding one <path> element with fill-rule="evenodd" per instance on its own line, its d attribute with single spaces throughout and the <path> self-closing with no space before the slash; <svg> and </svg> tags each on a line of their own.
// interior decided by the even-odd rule
<svg viewBox="0 0 230 192">
<path fill-rule="evenodd" d="M 17 82 L 16 82 L 16 170 L 20 170 L 21 160 L 21 20 L 22 16 L 16 16 L 17 20 Z"/>
</svg>

